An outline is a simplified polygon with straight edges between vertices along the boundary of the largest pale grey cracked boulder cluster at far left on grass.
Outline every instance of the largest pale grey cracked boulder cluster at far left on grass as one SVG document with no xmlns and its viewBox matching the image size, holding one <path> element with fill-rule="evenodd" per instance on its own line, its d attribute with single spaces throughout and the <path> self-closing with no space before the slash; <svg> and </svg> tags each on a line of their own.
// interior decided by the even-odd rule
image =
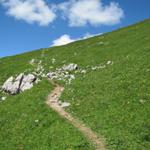
<svg viewBox="0 0 150 150">
<path fill-rule="evenodd" d="M 36 77 L 33 74 L 24 75 L 21 73 L 15 79 L 14 77 L 7 79 L 2 86 L 2 90 L 11 95 L 15 95 L 25 90 L 31 89 L 35 81 Z"/>
</svg>

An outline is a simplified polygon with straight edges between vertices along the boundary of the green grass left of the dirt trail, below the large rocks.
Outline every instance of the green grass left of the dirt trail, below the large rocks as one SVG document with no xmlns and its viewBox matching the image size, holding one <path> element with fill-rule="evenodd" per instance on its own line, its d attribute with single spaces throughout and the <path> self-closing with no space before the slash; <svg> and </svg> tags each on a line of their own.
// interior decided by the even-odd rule
<svg viewBox="0 0 150 150">
<path fill-rule="evenodd" d="M 0 103 L 0 149 L 93 149 L 74 127 L 46 106 L 50 90 L 50 83 L 43 81 Z"/>
</svg>

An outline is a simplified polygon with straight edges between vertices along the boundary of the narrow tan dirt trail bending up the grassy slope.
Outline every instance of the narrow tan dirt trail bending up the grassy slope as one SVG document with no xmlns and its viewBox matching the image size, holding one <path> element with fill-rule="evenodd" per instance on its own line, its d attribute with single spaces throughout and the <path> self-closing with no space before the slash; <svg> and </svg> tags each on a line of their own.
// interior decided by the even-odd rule
<svg viewBox="0 0 150 150">
<path fill-rule="evenodd" d="M 93 145 L 96 150 L 106 150 L 104 140 L 97 136 L 90 128 L 86 127 L 77 118 L 73 117 L 70 113 L 66 112 L 59 106 L 58 100 L 64 91 L 64 88 L 57 85 L 55 89 L 49 94 L 46 103 L 55 110 L 62 118 L 67 119 L 74 127 L 76 127 Z"/>
</svg>

